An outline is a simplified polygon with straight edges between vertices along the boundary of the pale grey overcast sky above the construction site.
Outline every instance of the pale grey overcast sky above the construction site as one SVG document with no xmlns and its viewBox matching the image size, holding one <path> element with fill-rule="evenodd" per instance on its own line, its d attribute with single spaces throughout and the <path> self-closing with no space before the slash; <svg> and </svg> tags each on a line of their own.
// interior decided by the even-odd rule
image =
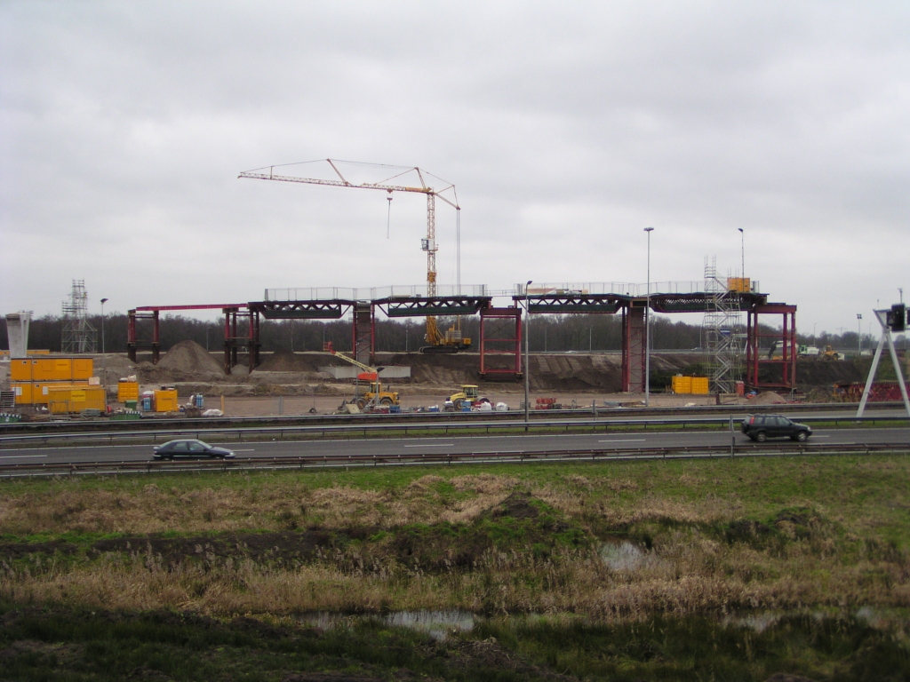
<svg viewBox="0 0 910 682">
<path fill-rule="evenodd" d="M 643 283 L 654 226 L 807 333 L 910 287 L 906 2 L 5 0 L 0 50 L 0 313 L 422 284 L 423 196 L 238 179 L 327 157 L 454 183 L 466 285 Z"/>
</svg>

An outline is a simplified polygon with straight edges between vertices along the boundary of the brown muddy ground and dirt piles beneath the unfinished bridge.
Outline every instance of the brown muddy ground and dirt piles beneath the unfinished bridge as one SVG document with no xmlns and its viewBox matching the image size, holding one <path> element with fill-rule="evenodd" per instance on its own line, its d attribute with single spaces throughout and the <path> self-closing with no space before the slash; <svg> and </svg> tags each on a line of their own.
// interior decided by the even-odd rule
<svg viewBox="0 0 910 682">
<path fill-rule="evenodd" d="M 508 358 L 494 358 L 500 364 Z M 324 371 L 329 366 L 349 366 L 339 357 L 326 353 L 307 352 L 263 353 L 260 365 L 249 372 L 241 364 L 226 375 L 224 355 L 208 352 L 202 346 L 184 341 L 161 356 L 157 365 L 150 354 L 132 363 L 123 354 L 96 356 L 96 375 L 106 386 L 114 388 L 121 378 L 135 376 L 141 390 L 161 386 L 176 386 L 181 399 L 196 393 L 206 398 L 206 407 L 222 408 L 232 416 L 302 415 L 311 412 L 334 412 L 342 401 L 355 397 L 350 380 L 336 380 Z M 706 357 L 700 353 L 655 352 L 652 355 L 652 376 L 669 384 L 675 374 L 704 373 Z M 241 363 L 246 361 L 240 357 Z M 505 403 L 510 409 L 521 409 L 524 386 L 521 381 L 490 381 L 480 379 L 480 356 L 477 353 L 458 355 L 422 355 L 420 353 L 379 353 L 376 364 L 410 367 L 411 376 L 392 379 L 386 389 L 398 391 L 405 409 L 442 406 L 446 398 L 462 384 L 477 384 L 480 395 L 493 403 Z M 8 385 L 0 363 L 0 383 Z M 623 394 L 622 356 L 617 352 L 531 354 L 531 407 L 538 398 L 552 398 L 563 406 L 634 406 L 642 396 Z M 862 381 L 862 371 L 851 362 L 800 361 L 797 370 L 800 388 L 813 400 L 830 396 L 835 382 Z M 3 386 L 6 387 L 6 386 Z M 776 397 L 769 398 L 772 401 Z M 652 394 L 652 405 L 686 406 L 710 405 L 714 396 L 674 396 L 660 392 Z M 741 402 L 728 396 L 724 403 Z"/>
</svg>

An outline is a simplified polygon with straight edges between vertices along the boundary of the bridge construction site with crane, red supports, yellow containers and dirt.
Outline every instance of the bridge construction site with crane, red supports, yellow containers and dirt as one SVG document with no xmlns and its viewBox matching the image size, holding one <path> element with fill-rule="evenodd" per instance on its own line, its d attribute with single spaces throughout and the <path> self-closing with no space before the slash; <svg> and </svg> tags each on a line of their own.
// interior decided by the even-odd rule
<svg viewBox="0 0 910 682">
<path fill-rule="evenodd" d="M 103 325 L 102 352 L 98 353 L 98 330 L 89 324 L 86 312 L 85 283 L 74 280 L 62 311 L 61 358 L 94 354 L 96 363 L 90 376 L 76 378 L 70 369 L 69 374 L 55 377 L 58 386 L 51 390 L 70 387 L 81 391 L 83 382 L 91 382 L 105 390 L 105 409 L 113 402 L 116 410 L 127 412 L 163 412 L 150 407 L 143 397 L 177 391 L 181 398 L 193 396 L 195 402 L 187 403 L 188 407 L 195 408 L 195 403 L 208 397 L 208 405 L 216 399 L 212 410 L 231 414 L 326 413 L 339 407 L 349 412 L 514 410 L 523 408 L 525 394 L 531 408 L 541 409 L 637 406 L 652 401 L 668 406 L 755 399 L 783 402 L 800 394 L 796 306 L 774 301 L 742 270 L 722 275 L 716 259 L 705 257 L 703 276 L 698 280 L 651 282 L 649 246 L 646 284 L 528 281 L 500 289 L 462 285 L 459 228 L 454 246 L 457 282 L 440 286 L 436 206 L 439 199 L 460 215 L 454 185 L 440 181 L 442 188 L 434 189 L 428 179 L 435 176 L 417 167 L 386 182 L 355 184 L 342 174 L 340 162 L 327 159 L 326 164 L 336 177 L 280 175 L 274 166 L 240 177 L 379 190 L 386 193 L 389 206 L 397 192 L 425 196 L 426 235 L 420 240 L 427 261 L 424 285 L 267 288 L 261 300 L 135 306 L 128 310 L 126 355 L 121 355 L 104 352 Z M 414 184 L 392 182 L 400 183 L 408 174 L 417 178 Z M 223 348 L 211 353 L 187 340 L 162 353 L 162 316 L 194 312 L 222 316 Z M 702 319 L 703 344 L 696 352 L 654 349 L 649 332 L 654 316 L 693 314 Z M 622 347 L 617 352 L 589 354 L 531 353 L 527 331 L 534 318 L 569 315 L 618 316 Z M 376 327 L 382 318 L 422 319 L 424 345 L 420 352 L 390 353 L 379 347 Z M 264 320 L 342 319 L 350 321 L 349 345 L 335 348 L 329 343 L 321 352 L 306 353 L 262 350 Z M 446 320 L 444 325 L 441 319 Z M 477 337 L 464 333 L 467 321 L 477 323 L 470 325 Z M 7 334 L 14 361 L 31 357 L 27 314 L 8 315 Z M 40 358 L 31 360 L 31 365 L 38 364 Z M 699 370 L 696 376 L 693 367 Z M 804 375 L 808 379 L 804 385 L 857 382 L 863 378 L 858 374 L 845 364 L 813 363 Z M 655 375 L 669 380 L 654 386 Z M 11 371 L 0 365 L 4 409 L 54 412 L 48 388 L 40 384 L 45 380 L 36 368 L 26 371 L 25 366 L 18 366 Z M 162 404 L 172 407 L 169 397 Z M 180 403 L 180 409 L 184 407 Z M 196 414 L 196 410 L 190 412 Z"/>
</svg>

